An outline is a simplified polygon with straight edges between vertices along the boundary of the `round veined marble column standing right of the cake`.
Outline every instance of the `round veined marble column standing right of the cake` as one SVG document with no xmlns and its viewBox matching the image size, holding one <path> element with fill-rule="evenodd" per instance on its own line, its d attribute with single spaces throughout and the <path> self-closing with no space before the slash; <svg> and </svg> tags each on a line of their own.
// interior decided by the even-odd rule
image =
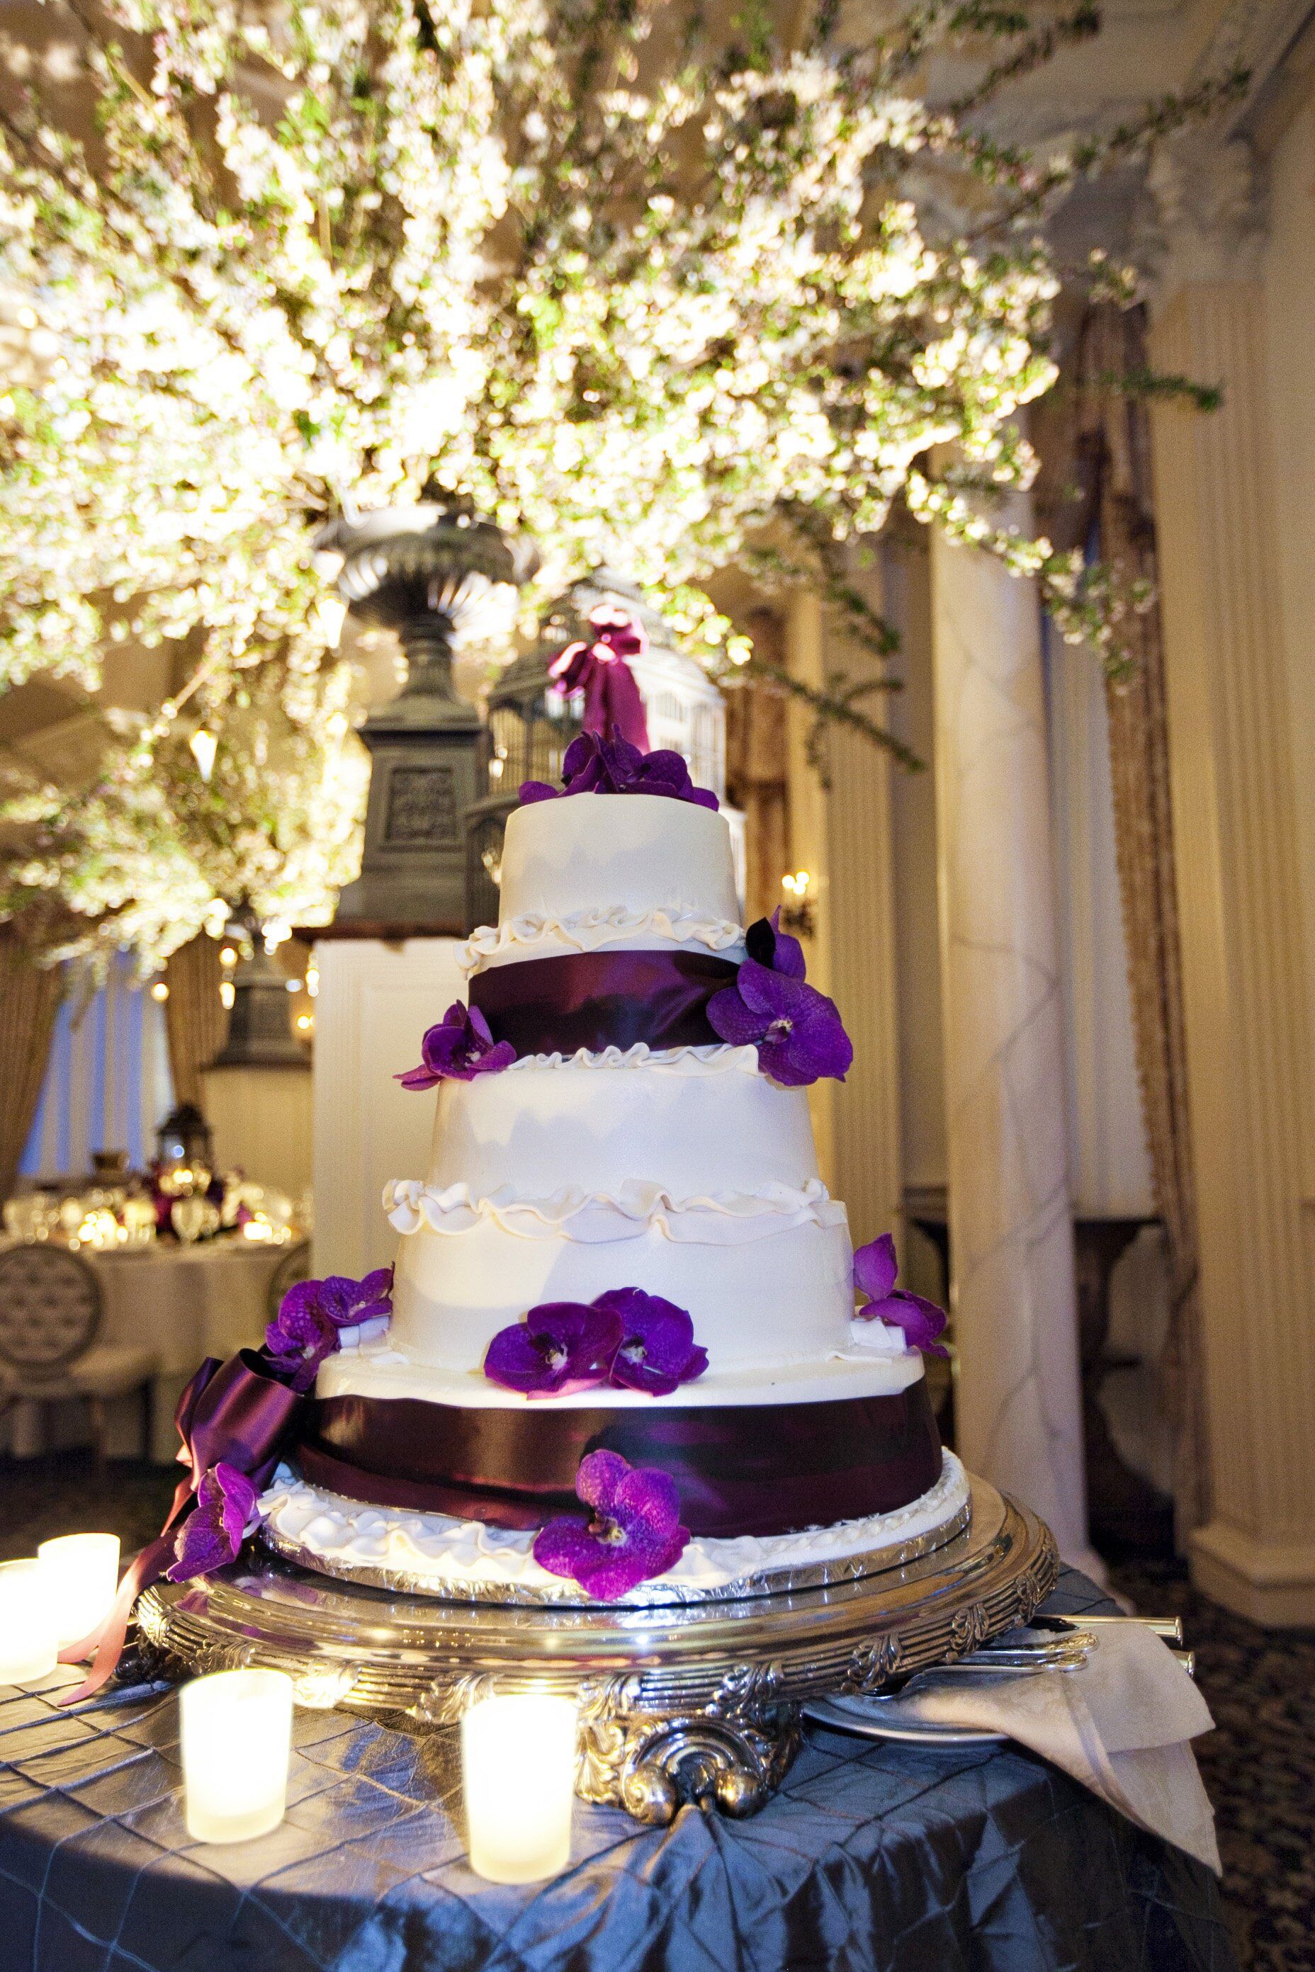
<svg viewBox="0 0 1315 1972">
<path fill-rule="evenodd" d="M 1029 527 L 1025 501 L 1005 525 Z M 1063 1556 L 1086 1538 L 1065 1037 L 1035 588 L 933 530 L 956 1430 Z"/>
</svg>

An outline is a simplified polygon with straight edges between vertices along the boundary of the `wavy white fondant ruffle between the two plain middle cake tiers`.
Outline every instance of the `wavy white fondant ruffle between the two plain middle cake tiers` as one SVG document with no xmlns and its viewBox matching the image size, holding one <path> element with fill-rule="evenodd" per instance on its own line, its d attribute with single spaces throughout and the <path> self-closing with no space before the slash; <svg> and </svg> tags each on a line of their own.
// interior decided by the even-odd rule
<svg viewBox="0 0 1315 1972">
<path fill-rule="evenodd" d="M 580 1244 L 664 1238 L 702 1246 L 743 1246 L 793 1227 L 840 1227 L 844 1205 L 818 1177 L 806 1185 L 763 1185 L 761 1191 L 727 1191 L 718 1197 L 676 1199 L 662 1185 L 631 1179 L 613 1195 L 566 1187 L 546 1199 L 519 1199 L 509 1187 L 471 1197 L 465 1183 L 444 1191 L 418 1177 L 384 1185 L 384 1211 L 398 1232 L 469 1232 L 491 1219 L 519 1238 L 570 1238 Z"/>
</svg>

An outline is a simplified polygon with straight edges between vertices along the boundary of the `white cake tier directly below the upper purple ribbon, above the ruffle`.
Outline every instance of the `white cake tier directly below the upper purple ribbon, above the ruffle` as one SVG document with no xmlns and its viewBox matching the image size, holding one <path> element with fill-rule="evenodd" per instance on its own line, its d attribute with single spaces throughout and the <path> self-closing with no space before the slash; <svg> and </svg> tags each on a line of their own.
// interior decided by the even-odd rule
<svg viewBox="0 0 1315 1972">
<path fill-rule="evenodd" d="M 757 1049 L 613 1049 L 611 1065 L 605 1055 L 530 1057 L 444 1083 L 428 1183 L 520 1199 L 562 1185 L 609 1195 L 649 1185 L 692 1199 L 804 1187 L 816 1175 L 808 1096 L 767 1081 Z"/>
</svg>

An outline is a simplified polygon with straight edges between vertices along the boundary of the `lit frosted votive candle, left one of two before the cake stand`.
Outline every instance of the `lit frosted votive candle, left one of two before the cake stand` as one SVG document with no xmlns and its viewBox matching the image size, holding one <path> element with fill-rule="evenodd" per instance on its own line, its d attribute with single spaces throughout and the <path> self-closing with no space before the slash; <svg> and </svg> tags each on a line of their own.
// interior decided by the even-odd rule
<svg viewBox="0 0 1315 1972">
<path fill-rule="evenodd" d="M 183 1814 L 193 1842 L 250 1842 L 288 1804 L 292 1678 L 217 1670 L 183 1684 Z"/>
</svg>

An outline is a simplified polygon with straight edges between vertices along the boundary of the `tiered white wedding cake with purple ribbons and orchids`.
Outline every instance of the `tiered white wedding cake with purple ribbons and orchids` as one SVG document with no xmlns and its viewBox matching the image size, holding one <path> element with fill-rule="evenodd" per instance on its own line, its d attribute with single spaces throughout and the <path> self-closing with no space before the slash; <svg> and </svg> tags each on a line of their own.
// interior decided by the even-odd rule
<svg viewBox="0 0 1315 1972">
<path fill-rule="evenodd" d="M 741 927 L 680 755 L 584 736 L 564 789 L 526 785 L 463 960 L 402 1077 L 436 1114 L 384 1193 L 390 1313 L 339 1317 L 266 1538 L 475 1599 L 662 1601 L 962 1526 L 942 1317 L 818 1173 L 840 1016 L 798 941 Z"/>
</svg>

